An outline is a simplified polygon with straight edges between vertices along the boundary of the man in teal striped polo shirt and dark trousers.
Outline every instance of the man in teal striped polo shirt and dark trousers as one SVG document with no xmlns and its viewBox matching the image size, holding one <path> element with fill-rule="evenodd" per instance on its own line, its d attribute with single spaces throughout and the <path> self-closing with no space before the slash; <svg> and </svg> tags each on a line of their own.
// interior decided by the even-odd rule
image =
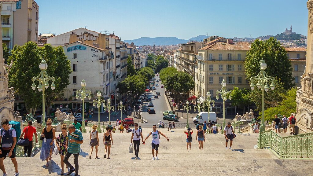
<svg viewBox="0 0 313 176">
<path fill-rule="evenodd" d="M 74 176 L 78 175 L 78 156 L 80 153 L 80 144 L 83 143 L 83 135 L 81 131 L 76 129 L 73 124 L 69 125 L 68 141 L 66 142 L 66 153 L 63 162 L 70 168 L 67 175 L 75 171 Z M 74 155 L 75 168 L 69 163 L 69 157 Z"/>
</svg>

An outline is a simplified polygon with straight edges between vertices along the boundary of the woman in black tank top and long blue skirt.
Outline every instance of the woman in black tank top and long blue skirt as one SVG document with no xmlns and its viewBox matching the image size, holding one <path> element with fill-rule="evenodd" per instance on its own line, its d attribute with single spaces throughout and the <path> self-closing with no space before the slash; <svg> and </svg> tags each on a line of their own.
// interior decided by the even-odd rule
<svg viewBox="0 0 313 176">
<path fill-rule="evenodd" d="M 42 132 L 41 132 L 41 136 L 44 137 L 44 139 L 42 140 L 40 159 L 42 161 L 46 160 L 47 161 L 46 167 L 48 167 L 49 166 L 48 161 L 51 160 L 52 151 L 54 150 L 55 130 L 53 127 L 51 127 L 51 124 L 52 124 L 51 119 L 48 119 L 46 124 L 47 124 L 47 127 L 42 129 Z"/>
</svg>

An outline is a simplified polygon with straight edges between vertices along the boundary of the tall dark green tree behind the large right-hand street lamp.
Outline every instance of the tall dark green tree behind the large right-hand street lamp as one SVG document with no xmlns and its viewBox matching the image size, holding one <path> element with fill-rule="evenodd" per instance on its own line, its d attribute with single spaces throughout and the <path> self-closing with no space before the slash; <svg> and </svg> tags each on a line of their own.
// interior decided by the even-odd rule
<svg viewBox="0 0 313 176">
<path fill-rule="evenodd" d="M 258 75 L 260 71 L 259 61 L 263 58 L 267 64 L 265 71 L 269 76 L 278 77 L 285 89 L 295 86 L 292 77 L 292 68 L 287 52 L 280 46 L 280 42 L 273 37 L 265 41 L 256 39 L 247 52 L 244 61 L 246 78 Z M 249 80 L 250 81 L 250 80 Z"/>
</svg>

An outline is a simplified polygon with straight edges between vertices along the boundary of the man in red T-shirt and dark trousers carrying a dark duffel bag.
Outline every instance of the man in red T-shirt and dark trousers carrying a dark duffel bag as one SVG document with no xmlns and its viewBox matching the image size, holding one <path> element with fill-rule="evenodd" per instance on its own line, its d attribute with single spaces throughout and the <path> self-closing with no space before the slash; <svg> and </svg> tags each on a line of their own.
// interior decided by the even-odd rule
<svg viewBox="0 0 313 176">
<path fill-rule="evenodd" d="M 32 124 L 33 124 L 33 122 L 31 120 L 29 120 L 27 123 L 28 126 L 23 129 L 23 132 L 22 132 L 21 137 L 20 137 L 20 138 L 22 138 L 23 135 L 25 134 L 24 139 L 29 140 L 29 145 L 24 147 L 24 157 L 26 157 L 26 156 L 30 157 L 30 154 L 32 153 L 32 150 L 33 150 L 33 134 L 35 134 L 36 143 L 38 142 L 36 128 L 32 127 Z"/>
</svg>

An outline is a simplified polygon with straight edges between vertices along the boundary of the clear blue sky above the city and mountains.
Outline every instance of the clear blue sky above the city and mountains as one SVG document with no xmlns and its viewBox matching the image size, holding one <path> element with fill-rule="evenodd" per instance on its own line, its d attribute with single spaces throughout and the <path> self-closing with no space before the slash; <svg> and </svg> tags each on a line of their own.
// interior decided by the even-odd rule
<svg viewBox="0 0 313 176">
<path fill-rule="evenodd" d="M 307 35 L 307 0 L 35 0 L 39 33 L 88 26 L 122 40 L 198 35 L 252 37 L 290 28 Z"/>
</svg>

